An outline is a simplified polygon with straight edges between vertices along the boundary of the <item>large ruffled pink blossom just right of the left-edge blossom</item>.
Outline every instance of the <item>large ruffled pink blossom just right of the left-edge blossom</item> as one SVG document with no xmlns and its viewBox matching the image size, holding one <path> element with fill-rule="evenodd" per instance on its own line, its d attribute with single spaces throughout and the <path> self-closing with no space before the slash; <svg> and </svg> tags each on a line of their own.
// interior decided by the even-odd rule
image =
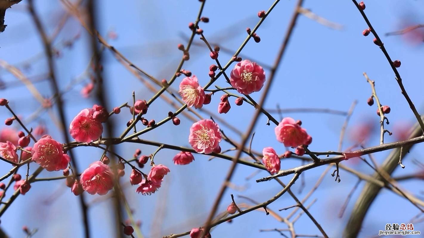
<svg viewBox="0 0 424 238">
<path fill-rule="evenodd" d="M 71 159 L 63 153 L 62 149 L 59 142 L 53 140 L 49 135 L 44 135 L 34 144 L 31 150 L 32 161 L 47 171 L 64 170 L 68 167 Z"/>
</svg>

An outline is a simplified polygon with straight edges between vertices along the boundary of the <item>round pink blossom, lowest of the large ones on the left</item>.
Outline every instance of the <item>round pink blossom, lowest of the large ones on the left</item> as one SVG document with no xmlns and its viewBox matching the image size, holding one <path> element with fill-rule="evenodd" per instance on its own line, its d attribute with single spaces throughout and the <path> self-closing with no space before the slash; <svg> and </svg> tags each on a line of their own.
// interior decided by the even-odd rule
<svg viewBox="0 0 424 238">
<path fill-rule="evenodd" d="M 113 188 L 113 173 L 101 161 L 95 161 L 80 177 L 82 188 L 89 194 L 105 195 Z"/>
</svg>

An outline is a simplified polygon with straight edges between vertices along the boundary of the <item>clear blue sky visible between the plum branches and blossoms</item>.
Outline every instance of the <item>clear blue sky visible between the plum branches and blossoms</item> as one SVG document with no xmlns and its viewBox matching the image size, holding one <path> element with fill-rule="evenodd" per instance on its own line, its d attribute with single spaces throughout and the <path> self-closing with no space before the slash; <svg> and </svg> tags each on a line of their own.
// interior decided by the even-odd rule
<svg viewBox="0 0 424 238">
<path fill-rule="evenodd" d="M 187 27 L 189 22 L 195 20 L 200 6 L 198 1 L 136 1 L 128 0 L 125 3 L 116 1 L 98 1 L 100 22 L 99 31 L 106 36 L 108 31 L 114 30 L 118 38 L 110 40 L 116 49 L 123 53 L 134 64 L 152 74 L 158 79 L 170 79 L 181 57 L 181 51 L 177 44 L 185 43 L 181 35 L 188 36 L 190 31 Z M 272 4 L 271 0 L 208 0 L 205 5 L 203 16 L 210 19 L 209 23 L 202 23 L 204 35 L 211 43 L 220 45 L 235 51 L 245 38 L 245 28 L 253 28 L 257 21 L 257 12 L 266 10 Z M 27 3 L 22 1 L 9 9 L 6 13 L 6 31 L 0 35 L 1 54 L 0 59 L 10 64 L 17 64 L 42 52 L 42 43 L 35 30 L 31 17 L 25 10 Z M 293 11 L 295 1 L 282 0 L 268 16 L 263 25 L 257 31 L 261 37 L 260 43 L 250 41 L 243 49 L 242 54 L 252 60 L 263 64 L 272 65 L 276 52 L 282 42 L 288 21 Z M 393 60 L 402 62 L 399 73 L 402 76 L 404 87 L 410 98 L 415 103 L 418 112 L 423 112 L 423 97 L 421 88 L 423 85 L 423 44 L 410 44 L 402 36 L 384 36 L 384 33 L 398 30 L 402 22 L 409 20 L 413 23 L 422 23 L 424 17 L 418 9 L 424 7 L 420 1 L 367 1 L 366 14 L 372 25 L 379 33 L 386 49 Z M 377 94 L 382 104 L 391 107 L 388 115 L 390 125 L 387 129 L 393 131 L 396 126 L 410 125 L 414 123 L 413 113 L 410 111 L 406 100 L 399 90 L 394 79 L 393 71 L 381 50 L 372 43 L 373 37 L 362 36 L 362 31 L 367 28 L 365 21 L 357 11 L 354 4 L 349 1 L 328 0 L 304 1 L 304 8 L 310 9 L 330 21 L 343 25 L 343 30 L 329 29 L 305 16 L 300 16 L 290 40 L 288 49 L 282 59 L 282 64 L 277 71 L 276 78 L 270 90 L 265 108 L 328 108 L 347 111 L 354 100 L 358 105 L 354 110 L 346 133 L 343 149 L 352 145 L 349 135 L 355 130 L 355 126 L 365 120 L 371 120 L 376 127 L 379 125 L 379 117 L 375 115 L 376 107 L 366 104 L 371 95 L 371 88 L 363 77 L 363 72 L 375 80 Z M 36 1 L 36 9 L 46 25 L 48 33 L 52 33 L 57 22 L 64 14 L 64 8 L 58 1 Z M 61 46 L 64 41 L 73 38 L 76 34 L 81 37 L 75 41 L 71 49 L 61 49 L 61 57 L 56 59 L 56 74 L 62 89 L 78 77 L 86 68 L 90 57 L 90 38 L 84 28 L 75 19 L 70 19 L 55 41 L 56 46 Z M 195 42 L 202 43 L 198 37 Z M 62 48 L 62 47 L 60 47 Z M 183 66 L 192 71 L 201 85 L 208 82 L 209 65 L 213 61 L 209 57 L 206 47 L 193 46 L 190 60 Z M 219 60 L 226 63 L 231 54 L 220 53 Z M 135 90 L 137 99 L 150 98 L 151 93 L 129 71 L 118 63 L 109 51 L 103 54 L 105 84 L 108 88 L 108 102 L 111 106 L 119 106 L 126 101 L 131 101 L 131 93 Z M 231 68 L 231 67 L 230 67 Z M 28 76 L 36 76 L 47 72 L 47 64 L 44 58 L 31 61 L 31 69 L 24 71 Z M 266 71 L 269 75 L 269 71 Z M 15 82 L 12 75 L 6 71 L 0 71 L 0 78 L 6 82 L 6 87 Z M 82 98 L 80 90 L 87 77 L 64 95 L 67 120 L 70 120 L 86 107 L 92 107 L 97 103 L 95 98 Z M 179 83 L 179 77 L 176 84 Z M 223 78 L 216 85 L 226 87 Z M 47 81 L 37 82 L 36 88 L 44 96 L 51 96 Z M 8 98 L 10 105 L 23 118 L 28 117 L 38 107 L 39 103 L 34 100 L 24 86 L 7 87 L 0 91 L 1 97 Z M 216 94 L 212 102 L 206 105 L 206 109 L 216 112 L 220 94 Z M 259 93 L 251 95 L 259 101 Z M 232 101 L 230 101 L 232 102 Z M 53 110 L 57 117 L 56 107 Z M 162 100 L 156 100 L 149 109 L 149 119 L 161 120 L 172 108 Z M 227 122 L 244 131 L 254 108 L 248 104 L 237 107 L 232 103 L 229 113 L 221 115 Z M 2 118 L 9 117 L 6 109 L 0 109 Z M 206 115 L 204 115 L 207 117 Z M 340 129 L 345 117 L 340 115 L 328 115 L 320 113 L 287 113 L 296 120 L 302 120 L 304 128 L 312 135 L 313 142 L 310 149 L 314 151 L 337 150 Z M 279 118 L 279 115 L 274 115 Z M 114 117 L 116 127 L 115 135 L 119 135 L 126 127 L 130 118 L 128 110 L 124 109 L 120 115 Z M 180 116 L 181 124 L 173 126 L 167 123 L 141 138 L 157 140 L 173 145 L 189 146 L 188 133 L 192 124 L 190 120 Z M 37 120 L 29 124 L 35 127 L 38 123 L 45 123 L 51 134 L 57 140 L 63 142 L 61 133 L 56 129 L 48 113 L 43 113 Z M 275 140 L 274 126 L 266 126 L 266 118 L 261 116 L 255 127 L 256 136 L 253 142 L 255 150 L 262 150 L 271 146 L 277 153 L 284 153 L 285 148 Z M 0 127 L 2 128 L 2 127 Z M 223 127 L 226 134 L 239 141 L 240 137 Z M 377 132 L 378 134 L 378 132 Z M 367 142 L 368 146 L 378 145 L 379 136 L 374 134 Z M 386 137 L 386 142 L 396 141 L 396 135 Z M 228 143 L 222 143 L 222 148 L 230 148 Z M 150 146 L 137 146 L 123 144 L 117 146 L 121 156 L 131 157 L 136 148 L 140 148 L 143 154 L 150 154 L 156 148 Z M 406 168 L 397 169 L 394 175 L 418 172 L 419 168 L 412 163 L 411 159 L 421 160 L 419 152 L 422 146 L 418 145 L 410 151 L 404 160 Z M 100 158 L 102 151 L 95 148 L 75 149 L 78 164 L 85 168 L 93 161 Z M 388 155 L 388 151 L 376 153 L 377 161 L 382 161 Z M 170 233 L 182 233 L 192 227 L 200 226 L 208 215 L 212 202 L 222 183 L 225 173 L 230 165 L 229 161 L 214 159 L 207 161 L 207 156 L 195 155 L 195 162 L 187 166 L 176 166 L 172 158 L 176 151 L 161 150 L 155 157 L 156 163 L 170 167 L 170 174 L 165 177 L 164 186 L 151 196 L 142 196 L 135 193 L 135 187 L 125 189 L 128 202 L 134 208 L 135 219 L 142 221 L 142 233 L 145 237 L 162 237 Z M 344 164 L 370 174 L 372 171 L 363 162 L 358 164 L 345 162 Z M 283 160 L 282 169 L 299 166 L 296 160 Z M 35 169 L 31 168 L 31 170 Z M 306 186 L 301 194 L 298 194 L 300 182 L 293 186 L 293 191 L 301 199 L 312 188 L 315 181 L 324 170 L 319 167 L 305 172 Z M 5 173 L 10 170 L 8 164 L 0 168 Z M 144 169 L 146 170 L 146 169 Z M 255 170 L 250 167 L 238 166 L 232 182 L 238 186 L 246 186 L 243 191 L 229 189 L 224 195 L 219 211 L 224 211 L 231 202 L 230 193 L 244 195 L 257 201 L 265 201 L 281 190 L 281 187 L 273 182 L 255 183 L 245 177 Z M 126 177 L 123 183 L 128 183 L 128 175 L 131 170 L 126 168 Z M 54 177 L 60 172 L 42 172 L 40 177 Z M 266 176 L 260 172 L 254 178 Z M 306 202 L 309 204 L 314 198 L 317 202 L 310 208 L 312 215 L 320 222 L 330 237 L 339 237 L 349 217 L 354 200 L 357 198 L 364 183 L 354 193 L 351 202 L 342 219 L 338 218 L 338 212 L 349 193 L 356 183 L 357 178 L 347 172 L 341 171 L 341 182 L 336 183 L 331 175 L 324 178 L 320 188 Z M 290 178 L 283 178 L 286 183 Z M 401 186 L 420 197 L 421 181 L 402 182 Z M 418 189 L 417 189 L 418 187 Z M 55 199 L 49 204 L 43 202 L 46 197 Z M 98 196 L 86 196 L 87 200 L 98 199 Z M 236 202 L 248 202 L 237 199 Z M 11 237 L 21 237 L 21 227 L 27 225 L 30 228 L 38 228 L 39 232 L 34 237 L 80 237 L 83 235 L 81 214 L 78 207 L 78 199 L 64 186 L 63 181 L 39 182 L 33 184 L 31 191 L 17 198 L 16 202 L 1 219 L 1 226 Z M 279 200 L 270 205 L 277 211 L 279 208 L 294 205 L 293 199 L 283 195 Z M 112 203 L 109 200 L 99 202 L 89 208 L 90 227 L 92 237 L 114 237 Z M 290 211 L 279 212 L 282 216 Z M 409 202 L 387 190 L 382 190 L 363 223 L 361 237 L 378 234 L 378 230 L 384 230 L 386 223 L 406 223 L 418 210 Z M 422 229 L 422 225 L 416 224 L 416 230 Z M 261 212 L 251 212 L 237 219 L 231 224 L 224 223 L 212 231 L 212 237 L 281 237 L 278 233 L 259 233 L 259 229 L 286 228 L 282 223 L 276 222 L 271 216 L 265 216 Z M 418 229 L 417 229 L 418 228 Z M 295 229 L 300 234 L 319 234 L 316 227 L 307 216 L 302 216 L 295 224 Z"/>
</svg>

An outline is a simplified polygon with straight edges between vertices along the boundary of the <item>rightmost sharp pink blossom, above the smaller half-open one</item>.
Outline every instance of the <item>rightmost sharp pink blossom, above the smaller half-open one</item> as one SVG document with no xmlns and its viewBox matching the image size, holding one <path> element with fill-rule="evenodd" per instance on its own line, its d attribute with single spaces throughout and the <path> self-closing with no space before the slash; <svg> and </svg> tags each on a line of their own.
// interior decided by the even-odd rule
<svg viewBox="0 0 424 238">
<path fill-rule="evenodd" d="M 293 148 L 312 142 L 312 137 L 309 138 L 306 130 L 301 128 L 293 118 L 283 118 L 275 128 L 275 135 L 279 142 L 284 143 L 284 146 Z"/>
</svg>

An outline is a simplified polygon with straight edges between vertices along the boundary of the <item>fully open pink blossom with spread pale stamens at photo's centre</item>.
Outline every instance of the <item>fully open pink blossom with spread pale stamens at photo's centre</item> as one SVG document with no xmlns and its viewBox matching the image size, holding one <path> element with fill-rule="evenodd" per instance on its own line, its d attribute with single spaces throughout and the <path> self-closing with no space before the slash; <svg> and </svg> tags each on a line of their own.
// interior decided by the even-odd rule
<svg viewBox="0 0 424 238">
<path fill-rule="evenodd" d="M 219 147 L 221 142 L 219 126 L 213 120 L 199 120 L 190 128 L 189 143 L 198 153 L 209 154 Z"/>
</svg>

